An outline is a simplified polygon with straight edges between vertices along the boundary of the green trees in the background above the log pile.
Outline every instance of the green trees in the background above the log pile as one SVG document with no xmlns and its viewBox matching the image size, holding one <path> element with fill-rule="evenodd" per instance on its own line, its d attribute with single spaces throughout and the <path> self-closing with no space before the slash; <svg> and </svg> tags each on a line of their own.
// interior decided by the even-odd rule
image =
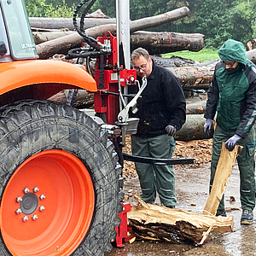
<svg viewBox="0 0 256 256">
<path fill-rule="evenodd" d="M 26 0 L 29 16 L 72 17 L 81 0 Z M 88 1 L 90 3 L 90 1 Z M 87 5 L 88 3 L 85 3 Z M 204 34 L 205 47 L 218 49 L 229 38 L 246 44 L 256 38 L 255 0 L 130 0 L 131 20 L 160 15 L 188 6 L 189 17 L 149 29 L 150 31 Z M 96 0 L 90 12 L 102 12 L 114 18 L 116 0 Z"/>
</svg>

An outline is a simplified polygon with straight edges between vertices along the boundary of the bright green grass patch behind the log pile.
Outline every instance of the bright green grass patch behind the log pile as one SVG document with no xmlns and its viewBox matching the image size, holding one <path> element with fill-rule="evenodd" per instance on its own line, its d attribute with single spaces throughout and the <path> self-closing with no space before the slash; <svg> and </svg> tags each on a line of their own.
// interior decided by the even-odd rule
<svg viewBox="0 0 256 256">
<path fill-rule="evenodd" d="M 201 49 L 200 51 L 194 52 L 189 50 L 181 50 L 176 51 L 168 54 L 163 54 L 163 58 L 170 58 L 172 55 L 182 57 L 185 59 L 190 59 L 193 61 L 199 61 L 204 62 L 208 60 L 215 60 L 219 59 L 219 56 L 217 54 L 218 49 Z"/>
</svg>

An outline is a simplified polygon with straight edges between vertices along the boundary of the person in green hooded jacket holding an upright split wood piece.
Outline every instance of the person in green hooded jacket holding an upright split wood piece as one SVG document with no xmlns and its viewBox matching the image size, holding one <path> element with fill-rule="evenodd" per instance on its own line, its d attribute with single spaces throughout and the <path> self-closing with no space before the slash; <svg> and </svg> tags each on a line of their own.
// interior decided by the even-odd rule
<svg viewBox="0 0 256 256">
<path fill-rule="evenodd" d="M 253 223 L 255 207 L 254 151 L 256 117 L 256 70 L 245 55 L 244 46 L 235 40 L 226 41 L 218 55 L 208 92 L 205 132 L 212 128 L 217 112 L 217 126 L 213 135 L 210 189 L 215 175 L 222 143 L 232 151 L 243 146 L 237 157 L 240 171 L 241 224 Z M 216 215 L 226 215 L 224 197 Z"/>
</svg>

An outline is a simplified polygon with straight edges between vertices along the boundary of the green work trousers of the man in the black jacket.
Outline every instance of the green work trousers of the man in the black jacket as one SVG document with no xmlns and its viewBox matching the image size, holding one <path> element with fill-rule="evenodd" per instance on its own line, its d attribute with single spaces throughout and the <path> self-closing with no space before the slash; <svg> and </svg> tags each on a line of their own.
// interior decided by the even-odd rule
<svg viewBox="0 0 256 256">
<path fill-rule="evenodd" d="M 171 158 L 175 149 L 175 140 L 167 134 L 157 137 L 131 136 L 131 152 L 133 155 Z M 166 207 L 176 205 L 174 167 L 135 163 L 142 195 L 146 203 L 154 204 L 156 192 L 160 203 Z"/>
</svg>

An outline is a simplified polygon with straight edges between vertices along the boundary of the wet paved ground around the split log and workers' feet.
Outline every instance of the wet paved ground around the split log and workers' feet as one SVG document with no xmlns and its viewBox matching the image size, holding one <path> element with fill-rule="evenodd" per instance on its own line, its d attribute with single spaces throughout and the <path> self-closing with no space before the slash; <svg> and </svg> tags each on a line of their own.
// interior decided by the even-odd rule
<svg viewBox="0 0 256 256">
<path fill-rule="evenodd" d="M 201 213 L 208 197 L 208 181 L 210 166 L 184 166 L 176 168 L 177 208 Z M 227 188 L 225 190 L 225 207 L 228 216 L 234 216 L 234 230 L 231 233 L 211 233 L 207 241 L 199 247 L 191 244 L 172 244 L 168 242 L 134 241 L 125 242 L 125 247 L 113 247 L 111 253 L 105 256 L 253 256 L 256 255 L 256 211 L 254 223 L 241 225 L 241 205 L 239 200 L 239 171 L 234 166 Z M 135 203 L 132 195 L 140 195 L 137 177 L 125 180 L 125 195 L 127 202 Z M 156 201 L 159 203 L 159 201 Z"/>
</svg>

